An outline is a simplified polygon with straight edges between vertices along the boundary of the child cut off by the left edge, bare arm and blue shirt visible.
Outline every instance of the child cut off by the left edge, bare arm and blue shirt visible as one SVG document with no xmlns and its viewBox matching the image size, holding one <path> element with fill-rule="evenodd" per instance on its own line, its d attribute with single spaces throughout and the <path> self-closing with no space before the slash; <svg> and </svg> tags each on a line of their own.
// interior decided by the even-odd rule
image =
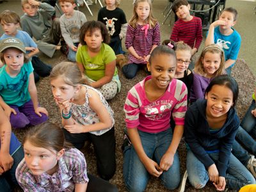
<svg viewBox="0 0 256 192">
<path fill-rule="evenodd" d="M 1 107 L 0 116 L 0 189 L 6 192 L 13 191 L 15 186 L 19 186 L 15 178 L 15 171 L 24 157 L 24 152 Z"/>
</svg>

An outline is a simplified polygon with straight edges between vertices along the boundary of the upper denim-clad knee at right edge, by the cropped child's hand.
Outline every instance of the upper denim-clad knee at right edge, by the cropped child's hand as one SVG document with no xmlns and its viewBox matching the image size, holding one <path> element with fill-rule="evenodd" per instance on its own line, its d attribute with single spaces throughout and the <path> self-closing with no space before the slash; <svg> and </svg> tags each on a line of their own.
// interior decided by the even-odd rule
<svg viewBox="0 0 256 192">
<path fill-rule="evenodd" d="M 252 104 L 246 111 L 244 118 L 241 122 L 241 126 L 244 128 L 245 131 L 250 132 L 250 135 L 252 135 L 253 138 L 256 138 L 256 118 L 251 113 L 253 109 L 255 109 L 255 100 L 252 101 Z"/>
</svg>

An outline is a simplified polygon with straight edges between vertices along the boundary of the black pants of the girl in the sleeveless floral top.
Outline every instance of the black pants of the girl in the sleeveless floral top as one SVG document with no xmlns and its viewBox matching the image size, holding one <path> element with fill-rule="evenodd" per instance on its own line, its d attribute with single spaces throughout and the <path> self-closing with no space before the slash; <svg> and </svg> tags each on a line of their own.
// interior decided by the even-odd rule
<svg viewBox="0 0 256 192">
<path fill-rule="evenodd" d="M 85 141 L 92 141 L 95 156 L 97 159 L 97 171 L 102 179 L 109 180 L 116 171 L 116 140 L 115 127 L 108 132 L 97 136 L 90 132 L 72 134 L 66 129 L 62 129 L 65 139 L 72 143 L 74 147 L 81 149 Z"/>
</svg>

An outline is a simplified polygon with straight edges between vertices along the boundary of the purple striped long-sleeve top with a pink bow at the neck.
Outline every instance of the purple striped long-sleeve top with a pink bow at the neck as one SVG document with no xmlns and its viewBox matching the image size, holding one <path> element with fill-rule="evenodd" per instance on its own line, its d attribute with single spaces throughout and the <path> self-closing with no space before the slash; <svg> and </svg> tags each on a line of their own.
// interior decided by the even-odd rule
<svg viewBox="0 0 256 192">
<path fill-rule="evenodd" d="M 132 26 L 128 25 L 125 38 L 126 49 L 133 47 L 141 57 L 147 56 L 153 45 L 160 45 L 160 28 L 158 22 L 154 28 L 145 29 L 146 26 L 137 24 L 136 28 L 132 28 Z M 129 54 L 128 59 L 129 63 L 147 63 L 147 61 L 138 60 L 132 54 Z"/>
</svg>

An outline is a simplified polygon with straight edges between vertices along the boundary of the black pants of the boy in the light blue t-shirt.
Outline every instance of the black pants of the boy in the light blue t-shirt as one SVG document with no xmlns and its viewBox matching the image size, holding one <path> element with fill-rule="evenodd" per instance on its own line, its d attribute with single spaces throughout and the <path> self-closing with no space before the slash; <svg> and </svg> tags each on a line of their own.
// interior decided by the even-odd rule
<svg viewBox="0 0 256 192">
<path fill-rule="evenodd" d="M 32 57 L 31 63 L 34 68 L 35 82 L 39 81 L 39 76 L 46 77 L 50 75 L 52 67 L 50 65 L 46 65 L 37 56 Z"/>
</svg>

